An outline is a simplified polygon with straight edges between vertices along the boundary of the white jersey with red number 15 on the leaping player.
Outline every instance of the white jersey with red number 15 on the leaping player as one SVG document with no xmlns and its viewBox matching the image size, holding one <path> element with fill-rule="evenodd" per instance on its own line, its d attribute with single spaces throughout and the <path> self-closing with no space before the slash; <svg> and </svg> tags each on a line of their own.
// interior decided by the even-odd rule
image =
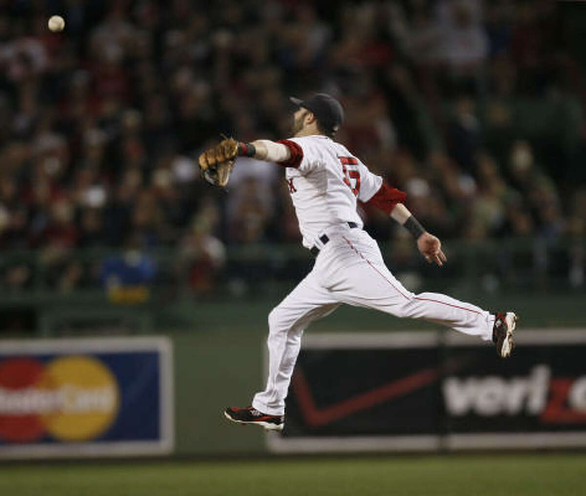
<svg viewBox="0 0 586 496">
<path fill-rule="evenodd" d="M 311 248 L 330 226 L 363 222 L 356 201 L 367 202 L 380 190 L 383 178 L 345 146 L 322 135 L 290 138 L 303 152 L 298 167 L 287 167 L 285 178 L 295 206 L 303 245 Z"/>
</svg>

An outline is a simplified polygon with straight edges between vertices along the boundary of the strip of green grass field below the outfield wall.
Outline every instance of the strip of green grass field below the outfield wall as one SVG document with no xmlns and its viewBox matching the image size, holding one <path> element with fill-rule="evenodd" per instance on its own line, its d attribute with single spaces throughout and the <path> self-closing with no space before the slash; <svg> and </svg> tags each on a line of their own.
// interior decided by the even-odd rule
<svg viewBox="0 0 586 496">
<path fill-rule="evenodd" d="M 0 466 L 14 496 L 581 496 L 586 454 Z"/>
</svg>

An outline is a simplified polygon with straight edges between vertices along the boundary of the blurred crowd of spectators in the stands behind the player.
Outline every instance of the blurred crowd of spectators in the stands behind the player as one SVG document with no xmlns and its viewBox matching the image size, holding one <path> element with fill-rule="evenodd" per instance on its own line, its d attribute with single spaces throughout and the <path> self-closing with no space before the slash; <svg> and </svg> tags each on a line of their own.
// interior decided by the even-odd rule
<svg viewBox="0 0 586 496">
<path fill-rule="evenodd" d="M 0 249 L 39 250 L 56 287 L 120 284 L 112 267 L 169 247 L 205 291 L 227 245 L 297 242 L 280 167 L 240 159 L 216 191 L 197 156 L 220 133 L 287 137 L 287 97 L 313 91 L 340 99 L 337 139 L 442 239 L 584 235 L 586 18 L 560 2 L 0 4 Z M 100 247 L 123 254 L 99 274 L 70 261 Z"/>
</svg>

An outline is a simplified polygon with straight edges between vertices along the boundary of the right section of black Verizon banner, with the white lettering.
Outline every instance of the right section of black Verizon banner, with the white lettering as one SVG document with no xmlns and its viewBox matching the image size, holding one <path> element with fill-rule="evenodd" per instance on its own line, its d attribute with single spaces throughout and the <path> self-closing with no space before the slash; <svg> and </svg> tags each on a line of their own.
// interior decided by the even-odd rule
<svg viewBox="0 0 586 496">
<path fill-rule="evenodd" d="M 510 360 L 450 335 L 449 449 L 586 446 L 586 332 L 520 330 Z"/>
</svg>

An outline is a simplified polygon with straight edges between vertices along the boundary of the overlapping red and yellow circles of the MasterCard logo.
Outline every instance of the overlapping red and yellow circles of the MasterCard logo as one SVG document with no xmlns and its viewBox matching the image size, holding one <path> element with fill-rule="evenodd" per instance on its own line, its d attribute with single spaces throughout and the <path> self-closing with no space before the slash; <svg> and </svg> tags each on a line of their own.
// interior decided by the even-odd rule
<svg viewBox="0 0 586 496">
<path fill-rule="evenodd" d="M 46 435 L 66 442 L 95 439 L 110 428 L 119 407 L 116 378 L 96 358 L 0 361 L 0 439 L 5 442 Z"/>
</svg>

